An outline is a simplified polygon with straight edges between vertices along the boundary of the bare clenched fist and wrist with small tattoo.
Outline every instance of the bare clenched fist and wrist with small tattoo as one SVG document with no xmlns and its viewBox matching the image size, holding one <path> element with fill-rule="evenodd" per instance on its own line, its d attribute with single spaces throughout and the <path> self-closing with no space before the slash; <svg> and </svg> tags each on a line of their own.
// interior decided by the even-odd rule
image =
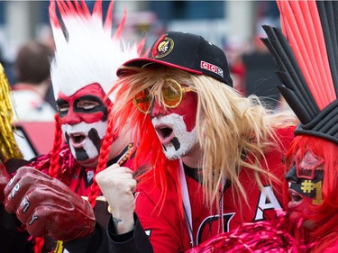
<svg viewBox="0 0 338 253">
<path fill-rule="evenodd" d="M 112 207 L 117 233 L 122 234 L 132 230 L 135 210 L 133 193 L 136 188 L 136 180 L 132 178 L 132 170 L 114 164 L 97 173 L 96 182 Z"/>
</svg>

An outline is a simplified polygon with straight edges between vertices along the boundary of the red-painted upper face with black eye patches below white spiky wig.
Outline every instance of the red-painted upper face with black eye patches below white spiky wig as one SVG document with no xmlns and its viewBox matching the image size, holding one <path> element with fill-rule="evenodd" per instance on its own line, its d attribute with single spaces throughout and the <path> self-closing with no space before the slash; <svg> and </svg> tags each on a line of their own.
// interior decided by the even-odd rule
<svg viewBox="0 0 338 253">
<path fill-rule="evenodd" d="M 78 124 L 79 122 L 105 122 L 108 109 L 112 104 L 105 99 L 105 92 L 98 84 L 86 86 L 74 95 L 59 94 L 58 100 L 59 124 Z"/>
</svg>

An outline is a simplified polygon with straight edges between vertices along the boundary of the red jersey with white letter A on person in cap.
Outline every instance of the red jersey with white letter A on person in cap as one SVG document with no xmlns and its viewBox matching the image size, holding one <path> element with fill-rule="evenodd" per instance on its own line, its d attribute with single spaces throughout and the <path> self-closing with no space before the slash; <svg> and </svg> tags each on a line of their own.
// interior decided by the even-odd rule
<svg viewBox="0 0 338 253">
<path fill-rule="evenodd" d="M 233 194 L 233 185 L 228 182 L 224 191 L 220 191 L 220 194 L 224 194 L 223 208 L 217 210 L 215 204 L 209 210 L 203 203 L 203 186 L 194 176 L 197 169 L 185 167 L 192 228 L 189 228 L 187 219 L 179 211 L 182 203 L 178 203 L 177 195 L 172 194 L 175 191 L 168 191 L 160 211 L 160 206 L 157 206 L 160 189 L 151 183 L 141 185 L 136 193 L 136 213 L 154 252 L 183 252 L 192 247 L 191 240 L 196 246 L 220 232 L 237 228 L 243 222 L 277 219 L 283 209 L 281 185 L 285 182 L 285 172 L 282 158 L 293 140 L 293 131 L 294 127 L 278 131 L 280 150 L 270 150 L 266 154 L 268 166 L 262 163 L 262 167 L 267 170 L 269 167 L 269 172 L 279 178 L 280 184 L 272 185 L 274 183 L 261 176 L 264 189 L 260 189 L 252 170 L 242 167 L 239 178 L 244 185 L 248 203 L 245 203 L 242 195 Z"/>
</svg>

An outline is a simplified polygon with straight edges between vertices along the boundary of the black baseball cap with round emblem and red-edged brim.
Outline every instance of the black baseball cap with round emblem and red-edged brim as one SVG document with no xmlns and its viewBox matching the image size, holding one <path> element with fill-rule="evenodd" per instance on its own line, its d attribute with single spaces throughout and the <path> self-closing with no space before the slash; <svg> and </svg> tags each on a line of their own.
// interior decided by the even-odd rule
<svg viewBox="0 0 338 253">
<path fill-rule="evenodd" d="M 124 62 L 123 66 L 142 68 L 149 63 L 214 77 L 233 86 L 224 50 L 192 33 L 166 32 L 151 46 L 148 58 L 131 59 Z M 122 68 L 117 69 L 117 76 L 123 74 Z"/>
</svg>

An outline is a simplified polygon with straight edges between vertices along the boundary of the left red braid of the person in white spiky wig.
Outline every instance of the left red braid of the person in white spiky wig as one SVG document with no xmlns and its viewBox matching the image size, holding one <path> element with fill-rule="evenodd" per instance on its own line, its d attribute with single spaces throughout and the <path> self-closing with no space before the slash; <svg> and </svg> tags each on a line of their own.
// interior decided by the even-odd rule
<svg viewBox="0 0 338 253">
<path fill-rule="evenodd" d="M 50 168 L 47 174 L 51 177 L 56 178 L 59 174 L 59 152 L 61 150 L 62 131 L 61 126 L 59 125 L 59 114 L 58 113 L 55 114 L 54 118 L 55 118 L 54 143 L 50 156 Z"/>
</svg>

